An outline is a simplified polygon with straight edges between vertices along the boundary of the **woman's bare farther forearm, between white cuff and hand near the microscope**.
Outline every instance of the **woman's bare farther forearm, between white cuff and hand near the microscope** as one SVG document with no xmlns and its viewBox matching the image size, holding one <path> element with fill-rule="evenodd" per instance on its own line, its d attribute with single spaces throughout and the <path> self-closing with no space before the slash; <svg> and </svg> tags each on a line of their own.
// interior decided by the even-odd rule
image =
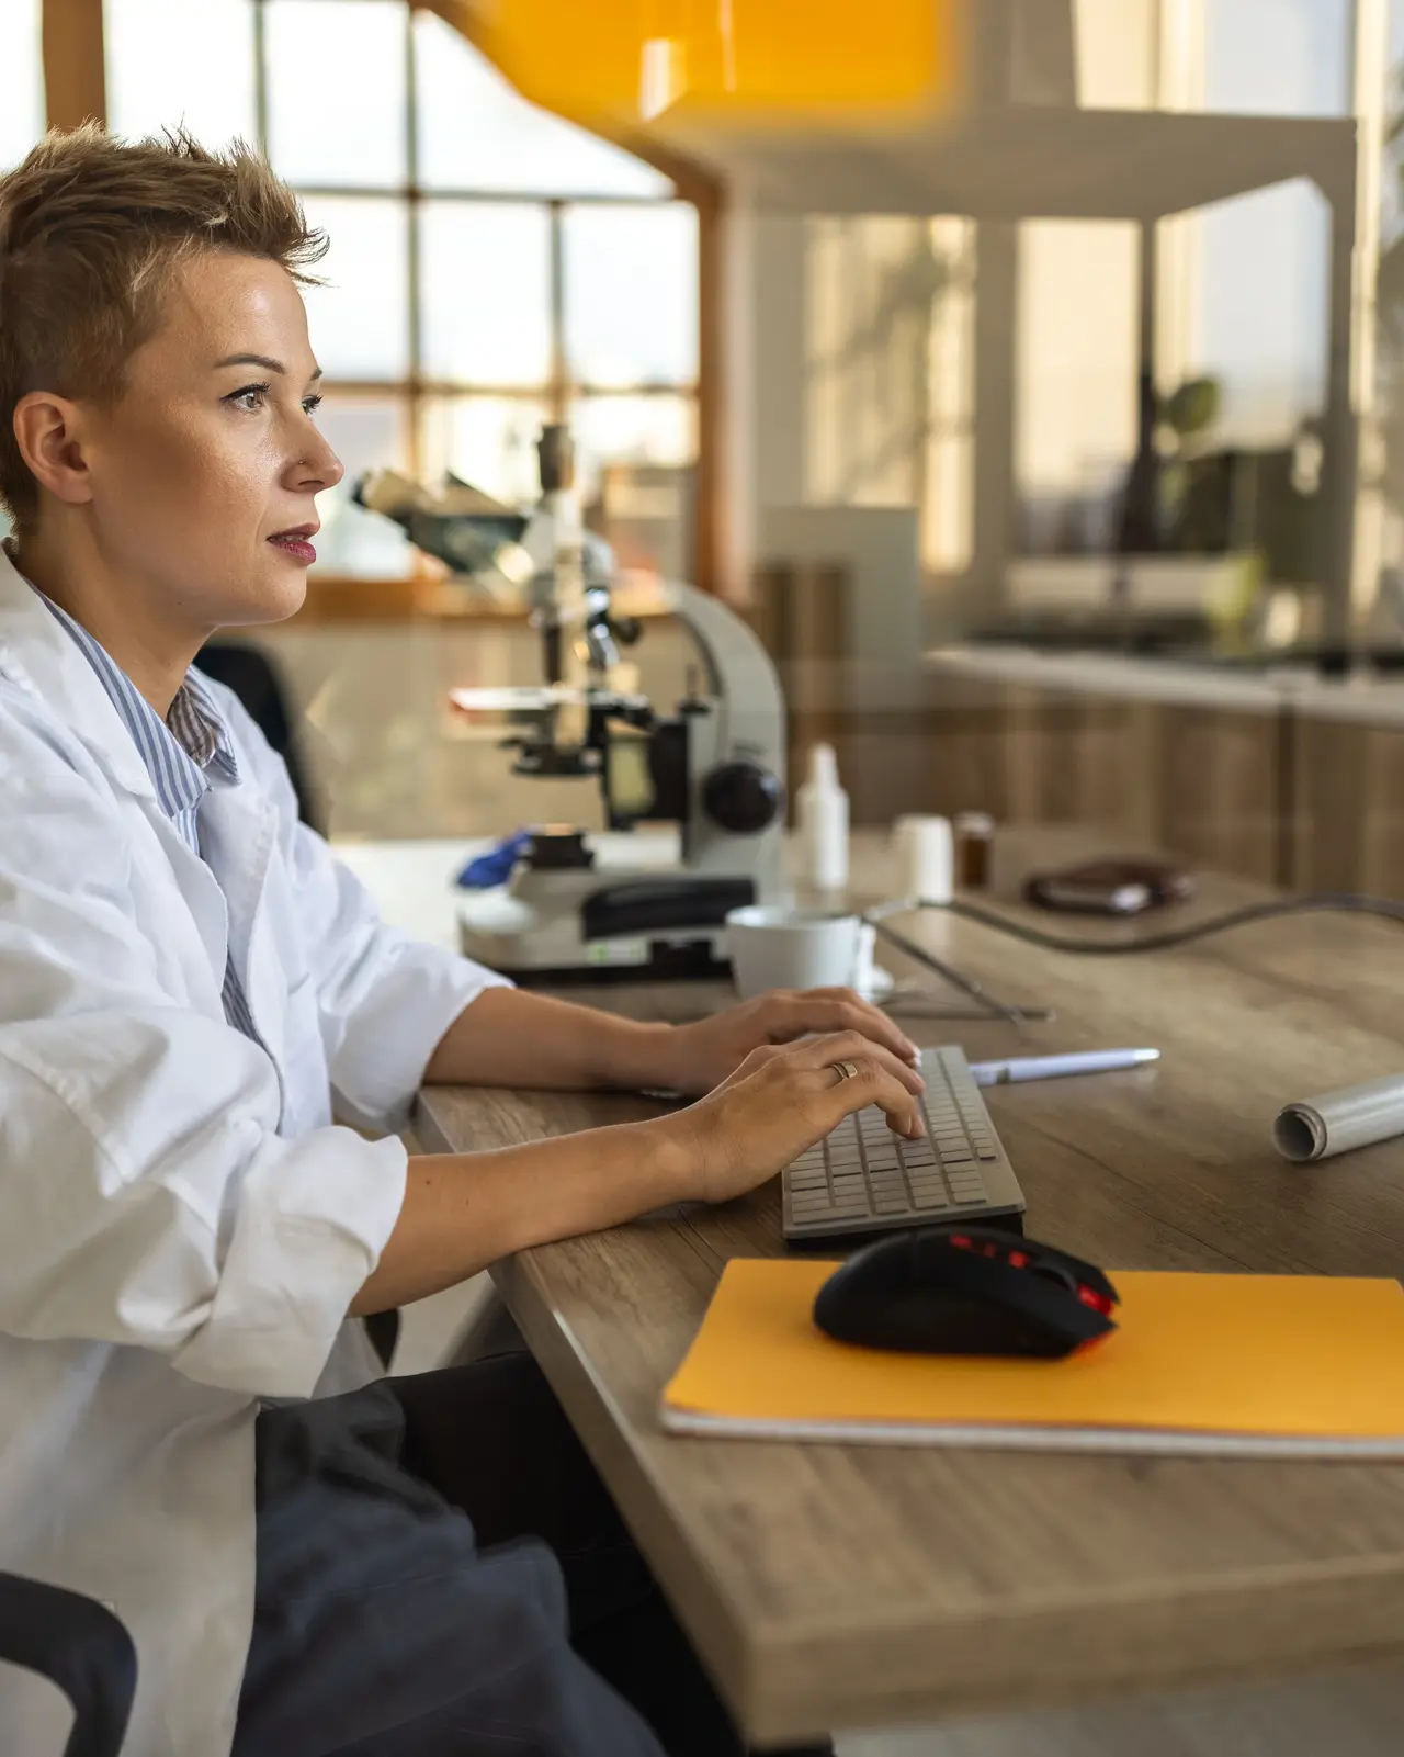
<svg viewBox="0 0 1404 1757">
<path fill-rule="evenodd" d="M 453 1021 L 425 1070 L 428 1086 L 534 1091 L 663 1086 L 672 1026 L 574 1007 L 523 989 L 486 989 Z"/>
</svg>

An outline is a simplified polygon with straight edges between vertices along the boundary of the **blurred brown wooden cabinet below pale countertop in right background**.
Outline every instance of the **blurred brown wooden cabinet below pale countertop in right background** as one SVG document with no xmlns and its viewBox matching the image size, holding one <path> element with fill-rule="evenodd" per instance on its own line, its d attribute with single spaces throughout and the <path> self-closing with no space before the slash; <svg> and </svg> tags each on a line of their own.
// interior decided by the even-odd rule
<svg viewBox="0 0 1404 1757">
<path fill-rule="evenodd" d="M 1293 891 L 1404 898 L 1404 715 L 1369 713 L 1353 703 L 1348 717 L 1314 691 L 1244 708 L 942 676 L 923 785 L 899 808 L 1086 824 L 1109 849 L 1164 849 Z M 872 821 L 856 798 L 855 813 Z"/>
</svg>

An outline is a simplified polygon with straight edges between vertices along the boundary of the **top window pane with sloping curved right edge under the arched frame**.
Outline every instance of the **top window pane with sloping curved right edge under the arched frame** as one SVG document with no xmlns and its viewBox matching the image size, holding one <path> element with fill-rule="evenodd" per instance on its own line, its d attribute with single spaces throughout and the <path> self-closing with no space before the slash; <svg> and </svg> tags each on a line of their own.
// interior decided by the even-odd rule
<svg viewBox="0 0 1404 1757">
<path fill-rule="evenodd" d="M 672 195 L 642 160 L 528 104 L 451 25 L 414 16 L 419 179 L 504 195 Z"/>
</svg>

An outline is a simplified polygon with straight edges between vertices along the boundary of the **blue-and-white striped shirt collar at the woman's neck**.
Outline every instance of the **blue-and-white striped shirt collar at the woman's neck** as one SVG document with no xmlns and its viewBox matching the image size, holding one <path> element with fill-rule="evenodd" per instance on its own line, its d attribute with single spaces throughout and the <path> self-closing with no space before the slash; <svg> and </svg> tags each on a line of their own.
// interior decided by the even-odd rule
<svg viewBox="0 0 1404 1757">
<path fill-rule="evenodd" d="M 58 624 L 68 631 L 97 673 L 109 701 L 118 710 L 118 717 L 137 745 L 151 785 L 156 789 L 156 799 L 167 817 L 177 821 L 188 817 L 207 792 L 211 775 L 225 782 L 239 782 L 239 761 L 228 727 L 195 669 L 186 671 L 186 680 L 176 692 L 170 713 L 163 720 L 107 648 L 81 622 L 75 622 L 67 610 L 46 597 L 39 587 L 33 587 L 33 592 Z"/>
</svg>

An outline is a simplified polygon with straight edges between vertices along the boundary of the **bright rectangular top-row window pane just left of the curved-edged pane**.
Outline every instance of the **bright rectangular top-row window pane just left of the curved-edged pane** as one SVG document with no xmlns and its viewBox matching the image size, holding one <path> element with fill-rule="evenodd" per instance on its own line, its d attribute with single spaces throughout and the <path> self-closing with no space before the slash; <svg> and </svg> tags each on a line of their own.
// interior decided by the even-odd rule
<svg viewBox="0 0 1404 1757">
<path fill-rule="evenodd" d="M 290 183 L 405 181 L 398 0 L 267 0 L 269 158 Z"/>
</svg>

